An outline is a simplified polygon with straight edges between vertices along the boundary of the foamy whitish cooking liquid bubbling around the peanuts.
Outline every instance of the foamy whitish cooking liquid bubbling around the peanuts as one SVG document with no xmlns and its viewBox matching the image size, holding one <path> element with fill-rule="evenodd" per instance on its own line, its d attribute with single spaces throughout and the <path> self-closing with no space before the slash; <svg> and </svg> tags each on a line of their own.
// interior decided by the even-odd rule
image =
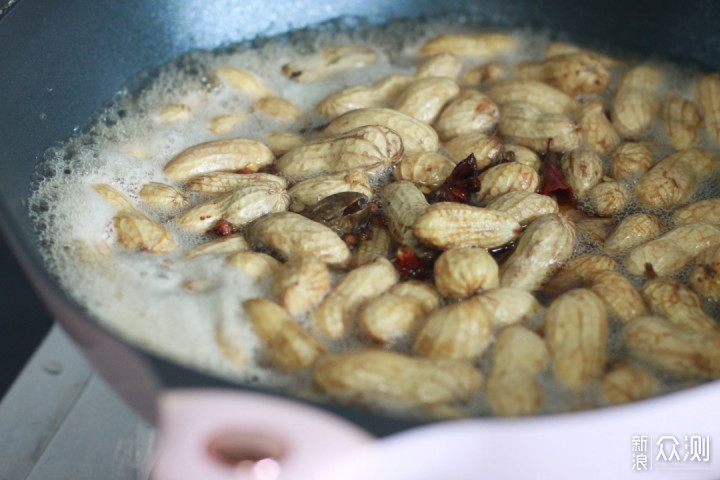
<svg viewBox="0 0 720 480">
<path fill-rule="evenodd" d="M 260 344 L 246 322 L 241 303 L 250 298 L 269 297 L 266 283 L 255 282 L 229 267 L 223 255 L 183 258 L 184 251 L 211 237 L 176 229 L 171 219 L 177 211 L 147 208 L 138 192 L 147 182 L 170 183 L 163 174 L 165 164 L 178 152 L 198 143 L 230 137 L 264 141 L 271 131 L 292 131 L 307 139 L 314 138 L 313 129 L 329 120 L 314 113 L 314 107 L 325 96 L 349 86 L 370 85 L 390 74 L 412 74 L 422 61 L 416 53 L 419 45 L 439 33 L 457 32 L 458 28 L 463 26 L 459 27 L 456 21 L 435 21 L 395 22 L 384 27 L 349 30 L 339 22 L 317 31 L 295 33 L 292 42 L 286 36 L 266 39 L 260 42 L 262 46 L 258 49 L 238 45 L 212 52 L 193 52 L 163 67 L 140 93 L 120 92 L 114 104 L 86 131 L 49 149 L 38 167 L 30 212 L 37 225 L 42 253 L 51 270 L 92 316 L 150 351 L 240 383 L 262 384 L 308 397 L 319 396 L 309 372 L 286 374 L 267 366 Z M 470 30 L 470 26 L 464 28 Z M 493 61 L 512 65 L 545 58 L 544 49 L 550 35 L 530 31 L 514 34 L 519 40 L 519 48 L 493 58 Z M 296 83 L 281 73 L 284 64 L 309 52 L 326 45 L 351 43 L 374 47 L 379 59 L 368 67 L 340 73 L 317 83 Z M 488 60 L 464 58 L 463 68 L 469 69 Z M 651 61 L 666 72 L 661 97 L 672 92 L 692 98 L 691 86 L 698 71 L 681 69 L 657 59 Z M 304 112 L 303 118 L 289 122 L 253 112 L 256 97 L 212 81 L 211 72 L 219 66 L 253 72 L 275 94 L 299 106 Z M 613 69 L 613 83 L 608 88 L 611 94 L 621 72 L 622 69 Z M 189 106 L 189 118 L 170 123 L 161 121 L 157 111 L 168 104 Z M 218 136 L 208 130 L 212 118 L 228 113 L 244 118 L 227 134 Z M 659 121 L 656 123 L 647 139 L 663 144 L 664 133 Z M 699 146 L 716 148 L 706 140 Z M 658 152 L 656 158 L 671 151 L 669 147 L 663 148 L 667 150 Z M 635 180 L 628 181 L 628 186 L 632 187 Z M 98 183 L 115 187 L 149 216 L 162 221 L 175 238 L 174 252 L 155 255 L 129 251 L 118 245 L 112 228 L 116 211 L 93 190 L 92 185 Z M 717 185 L 720 183 L 716 179 L 708 179 L 695 199 L 720 196 Z M 191 194 L 193 204 L 205 199 Z M 616 219 L 641 211 L 644 210 L 631 204 Z M 663 213 L 662 218 L 670 224 L 669 213 Z M 600 251 L 595 242 L 578 233 L 576 255 Z M 107 246 L 111 250 L 109 256 L 103 253 Z M 620 257 L 617 260 L 622 265 Z M 684 271 L 679 276 L 686 275 L 687 271 Z M 643 279 L 631 277 L 631 280 L 639 287 Z M 187 288 L 189 283 L 205 284 L 207 289 L 192 291 Z M 547 306 L 547 302 L 544 305 Z M 527 325 L 538 326 L 542 315 L 543 312 Z M 309 328 L 307 318 L 299 321 Z M 608 364 L 617 361 L 623 353 L 619 330 L 619 322 L 613 321 Z M 224 338 L 234 339 L 234 343 L 225 345 L 225 350 L 218 345 L 218 331 L 225 333 Z M 409 352 L 410 345 L 411 338 L 406 338 L 393 348 Z M 331 342 L 328 346 L 331 350 L 342 351 L 372 346 L 372 343 L 357 330 L 346 340 Z M 240 364 L 231 360 L 228 349 L 240 352 L 246 362 Z M 488 349 L 478 362 L 485 374 L 489 371 L 491 350 Z M 693 383 L 655 373 L 664 379 L 662 391 Z M 602 405 L 599 382 L 581 394 L 571 394 L 557 387 L 549 371 L 541 376 L 541 382 L 545 390 L 543 412 Z M 482 392 L 462 409 L 468 415 L 490 414 Z M 412 414 L 406 409 L 403 413 Z"/>
</svg>

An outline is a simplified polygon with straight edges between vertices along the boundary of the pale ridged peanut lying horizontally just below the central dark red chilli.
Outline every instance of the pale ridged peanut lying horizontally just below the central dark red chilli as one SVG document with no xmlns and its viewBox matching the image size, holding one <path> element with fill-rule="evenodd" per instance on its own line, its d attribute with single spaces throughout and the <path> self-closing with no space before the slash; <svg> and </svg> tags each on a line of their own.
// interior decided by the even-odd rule
<svg viewBox="0 0 720 480">
<path fill-rule="evenodd" d="M 495 248 L 513 240 L 520 224 L 498 210 L 460 203 L 438 202 L 430 205 L 413 225 L 415 237 L 431 247 Z"/>
</svg>

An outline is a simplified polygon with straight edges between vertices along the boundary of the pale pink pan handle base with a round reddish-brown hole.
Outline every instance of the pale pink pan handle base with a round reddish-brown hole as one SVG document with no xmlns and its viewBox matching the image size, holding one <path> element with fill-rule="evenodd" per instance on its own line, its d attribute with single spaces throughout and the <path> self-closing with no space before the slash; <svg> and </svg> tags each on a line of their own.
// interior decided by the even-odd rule
<svg viewBox="0 0 720 480">
<path fill-rule="evenodd" d="M 171 390 L 159 410 L 152 480 L 341 478 L 343 459 L 374 443 L 340 417 L 261 394 Z"/>
</svg>

